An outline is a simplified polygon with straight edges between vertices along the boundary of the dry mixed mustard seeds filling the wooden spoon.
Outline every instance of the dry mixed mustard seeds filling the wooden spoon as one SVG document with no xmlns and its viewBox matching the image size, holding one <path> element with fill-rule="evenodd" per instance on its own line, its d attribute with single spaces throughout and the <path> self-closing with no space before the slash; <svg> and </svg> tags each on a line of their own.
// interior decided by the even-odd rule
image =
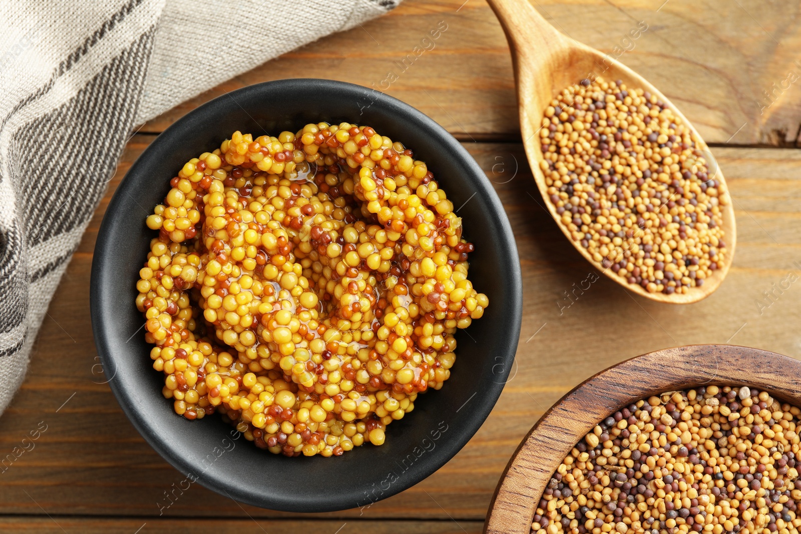
<svg viewBox="0 0 801 534">
<path fill-rule="evenodd" d="M 550 102 L 539 130 L 559 222 L 606 269 L 650 293 L 687 293 L 727 262 L 727 191 L 664 102 L 584 80 Z"/>
</svg>

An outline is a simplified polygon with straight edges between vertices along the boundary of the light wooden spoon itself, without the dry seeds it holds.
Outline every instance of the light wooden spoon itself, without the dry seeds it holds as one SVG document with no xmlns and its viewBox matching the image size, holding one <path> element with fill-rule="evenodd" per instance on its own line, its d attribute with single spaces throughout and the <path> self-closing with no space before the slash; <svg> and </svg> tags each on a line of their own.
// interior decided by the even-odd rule
<svg viewBox="0 0 801 534">
<path fill-rule="evenodd" d="M 489 5 L 501 21 L 506 38 L 509 40 L 509 48 L 512 51 L 514 74 L 517 78 L 517 99 L 520 106 L 520 128 L 534 180 L 537 182 L 542 199 L 553 219 L 557 221 L 557 225 L 570 243 L 573 243 L 574 247 L 598 270 L 638 295 L 665 303 L 693 303 L 710 295 L 723 282 L 735 253 L 735 212 L 731 206 L 731 199 L 723 207 L 723 231 L 727 243 L 725 263 L 718 265 L 718 270 L 713 271 L 712 275 L 704 281 L 704 285 L 691 287 L 686 294 L 649 293 L 638 284 L 628 283 L 616 273 L 603 267 L 601 263 L 594 261 L 586 248 L 582 247 L 581 243 L 574 241 L 570 230 L 557 215 L 556 206 L 549 199 L 545 175 L 540 170 L 542 149 L 539 128 L 545 108 L 563 89 L 577 84 L 583 79 L 592 78 L 593 74 L 606 80 L 622 80 L 630 88 L 642 88 L 642 90 L 655 94 L 690 128 L 695 135 L 698 148 L 704 151 L 705 155 L 709 155 L 709 149 L 698 135 L 698 131 L 670 103 L 670 100 L 646 79 L 606 54 L 559 33 L 537 13 L 537 10 L 527 0 L 489 0 Z M 710 167 L 710 175 L 712 171 L 717 171 L 714 179 L 718 179 L 721 188 L 728 191 L 723 173 L 717 170 L 714 161 L 707 164 Z"/>
</svg>

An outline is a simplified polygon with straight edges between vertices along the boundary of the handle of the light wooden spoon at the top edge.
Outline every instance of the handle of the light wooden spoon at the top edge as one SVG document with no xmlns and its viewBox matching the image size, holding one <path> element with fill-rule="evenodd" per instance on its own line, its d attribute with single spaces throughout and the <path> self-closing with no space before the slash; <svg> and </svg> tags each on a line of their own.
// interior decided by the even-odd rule
<svg viewBox="0 0 801 534">
<path fill-rule="evenodd" d="M 538 62 L 572 41 L 546 21 L 529 0 L 487 1 L 501 21 L 512 54 L 530 56 Z"/>
</svg>

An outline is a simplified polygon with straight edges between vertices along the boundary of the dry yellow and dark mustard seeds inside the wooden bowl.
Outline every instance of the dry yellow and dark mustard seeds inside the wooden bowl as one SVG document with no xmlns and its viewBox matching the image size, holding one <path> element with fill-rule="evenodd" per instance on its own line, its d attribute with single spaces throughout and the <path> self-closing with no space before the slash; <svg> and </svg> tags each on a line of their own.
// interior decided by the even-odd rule
<svg viewBox="0 0 801 534">
<path fill-rule="evenodd" d="M 553 473 L 537 534 L 795 534 L 801 410 L 748 387 L 668 391 L 603 420 Z"/>
</svg>

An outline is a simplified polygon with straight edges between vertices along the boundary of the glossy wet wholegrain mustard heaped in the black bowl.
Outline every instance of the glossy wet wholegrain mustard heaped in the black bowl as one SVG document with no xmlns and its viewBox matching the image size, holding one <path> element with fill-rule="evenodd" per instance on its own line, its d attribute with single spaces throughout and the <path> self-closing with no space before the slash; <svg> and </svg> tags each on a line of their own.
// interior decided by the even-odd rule
<svg viewBox="0 0 801 534">
<path fill-rule="evenodd" d="M 369 126 L 237 131 L 171 186 L 136 283 L 163 395 L 270 452 L 383 444 L 489 303 L 445 191 Z"/>
</svg>

